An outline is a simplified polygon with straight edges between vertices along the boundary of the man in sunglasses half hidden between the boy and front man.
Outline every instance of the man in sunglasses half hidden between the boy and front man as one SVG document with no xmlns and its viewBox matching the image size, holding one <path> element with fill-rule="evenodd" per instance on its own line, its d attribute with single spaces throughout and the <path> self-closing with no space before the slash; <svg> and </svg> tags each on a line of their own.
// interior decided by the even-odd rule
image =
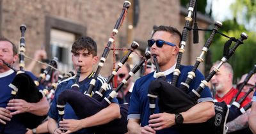
<svg viewBox="0 0 256 134">
<path fill-rule="evenodd" d="M 117 75 L 117 83 L 118 85 L 122 82 L 122 80 L 129 75 L 129 72 L 131 71 L 130 65 L 129 64 L 124 64 L 122 68 L 120 68 L 116 75 Z M 122 89 L 118 92 L 116 98 L 118 100 L 118 103 L 123 104 L 123 103 L 129 103 L 131 94 L 132 94 L 132 88 L 134 86 L 134 82 L 132 82 L 132 78 L 129 78 L 127 80 L 127 83 L 124 84 Z"/>
</svg>

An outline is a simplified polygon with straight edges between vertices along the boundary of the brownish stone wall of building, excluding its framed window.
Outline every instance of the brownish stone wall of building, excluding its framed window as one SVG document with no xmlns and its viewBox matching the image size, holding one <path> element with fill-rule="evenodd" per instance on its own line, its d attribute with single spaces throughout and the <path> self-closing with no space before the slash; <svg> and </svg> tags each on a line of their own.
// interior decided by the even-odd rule
<svg viewBox="0 0 256 134">
<path fill-rule="evenodd" d="M 1 35 L 19 44 L 20 24 L 26 24 L 26 55 L 33 57 L 33 52 L 42 45 L 49 47 L 49 39 L 45 33 L 46 18 L 56 18 L 83 27 L 83 33 L 97 41 L 101 56 L 104 46 L 118 19 L 124 1 L 111 0 L 0 0 L 1 1 Z M 129 10 L 128 10 L 129 11 Z M 170 25 L 183 27 L 180 19 L 179 1 L 170 0 L 140 0 L 140 19 L 134 27 L 134 40 L 145 44 L 154 25 Z M 182 29 L 180 29 L 182 31 Z M 125 20 L 118 35 L 116 45 L 120 45 L 122 38 L 127 36 L 127 20 Z M 126 40 L 126 39 L 125 39 Z M 123 40 L 124 42 L 124 40 Z M 122 42 L 122 43 L 123 43 Z M 122 46 L 125 46 L 124 44 Z M 126 45 L 129 47 L 129 45 Z M 102 75 L 107 76 L 111 72 L 112 52 L 106 61 L 106 71 Z M 26 59 L 29 63 L 29 59 Z M 109 70 L 109 71 L 108 71 Z M 36 71 L 36 70 L 34 70 Z M 38 72 L 38 71 L 37 71 Z"/>
</svg>

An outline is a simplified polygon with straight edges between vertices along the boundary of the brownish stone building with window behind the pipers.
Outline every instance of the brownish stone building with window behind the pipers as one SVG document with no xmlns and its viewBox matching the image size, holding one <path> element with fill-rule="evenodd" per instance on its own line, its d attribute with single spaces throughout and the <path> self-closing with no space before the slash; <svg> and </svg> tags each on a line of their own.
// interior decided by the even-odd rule
<svg viewBox="0 0 256 134">
<path fill-rule="evenodd" d="M 99 46 L 98 55 L 102 55 L 123 3 L 120 0 L 0 0 L 0 34 L 18 45 L 19 27 L 26 24 L 26 55 L 33 57 L 35 50 L 45 48 L 48 57 L 57 56 L 60 70 L 67 72 L 72 70 L 70 47 L 78 36 L 95 39 Z M 116 48 L 129 48 L 129 43 L 135 40 L 140 43 L 138 51 L 143 55 L 154 25 L 170 25 L 182 31 L 187 9 L 180 7 L 179 1 L 132 0 L 132 3 L 139 4 L 128 10 L 130 14 L 115 37 Z M 134 13 L 139 15 L 136 16 L 138 19 Z M 138 22 L 136 26 L 132 25 L 134 21 Z M 212 23 L 204 15 L 198 15 L 200 28 L 204 29 Z M 204 32 L 200 32 L 198 45 L 190 45 L 191 36 L 188 41 L 183 63 L 194 64 L 205 42 Z M 26 64 L 29 62 L 30 59 L 26 58 Z M 112 65 L 113 54 L 109 52 L 101 74 L 108 76 Z M 204 66 L 200 65 L 200 69 L 203 70 Z M 33 71 L 37 73 L 38 69 Z"/>
</svg>

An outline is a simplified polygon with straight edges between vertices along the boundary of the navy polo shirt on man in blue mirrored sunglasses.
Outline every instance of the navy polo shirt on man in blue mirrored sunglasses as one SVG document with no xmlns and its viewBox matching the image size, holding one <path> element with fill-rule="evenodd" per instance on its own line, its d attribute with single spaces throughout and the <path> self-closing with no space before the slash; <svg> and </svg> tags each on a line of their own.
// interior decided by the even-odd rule
<svg viewBox="0 0 256 134">
<path fill-rule="evenodd" d="M 172 76 L 173 76 L 173 70 L 175 66 L 170 68 L 169 70 L 164 71 L 164 75 L 166 75 L 166 81 L 172 82 Z M 193 66 L 181 66 L 180 67 L 180 76 L 177 83 L 177 87 L 180 86 L 181 82 L 185 82 L 188 72 L 191 71 Z M 199 84 L 201 83 L 201 80 L 204 80 L 204 76 L 200 71 L 196 70 L 195 72 L 196 77 L 193 78 L 190 86 L 189 91 L 192 89 L 196 89 Z M 148 120 L 150 116 L 150 110 L 149 110 L 149 102 L 148 102 L 148 86 L 152 80 L 155 80 L 155 72 L 149 73 L 148 75 L 145 75 L 144 77 L 139 78 L 136 80 L 134 84 L 134 88 L 132 90 L 132 96 L 130 100 L 130 106 L 129 106 L 129 112 L 128 112 L 128 119 L 140 119 L 141 126 L 148 125 Z M 200 93 L 200 98 L 198 99 L 198 103 L 203 101 L 213 101 L 212 95 L 208 87 Z M 159 107 L 156 103 L 156 110 L 154 113 L 159 113 Z M 189 130 L 188 130 L 189 131 Z M 190 130 L 191 131 L 191 130 Z M 166 128 L 161 131 L 157 131 L 157 133 L 177 133 L 175 128 Z"/>
</svg>

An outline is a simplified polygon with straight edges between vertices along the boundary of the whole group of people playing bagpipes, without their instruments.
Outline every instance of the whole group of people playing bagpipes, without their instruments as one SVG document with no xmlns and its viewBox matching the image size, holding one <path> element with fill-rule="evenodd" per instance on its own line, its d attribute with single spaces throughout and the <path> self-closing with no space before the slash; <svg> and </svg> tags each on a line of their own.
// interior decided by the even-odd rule
<svg viewBox="0 0 256 134">
<path fill-rule="evenodd" d="M 151 62 L 153 64 L 159 65 L 159 70 L 166 77 L 166 82 L 172 82 L 173 70 L 177 64 L 177 55 L 179 53 L 179 45 L 182 35 L 180 32 L 171 26 L 158 26 L 154 27 L 154 32 L 150 40 L 148 40 L 148 47 L 150 47 L 151 52 Z M 74 76 L 61 81 L 56 88 L 54 93 L 54 98 L 52 98 L 51 103 L 47 101 L 45 96 L 36 103 L 30 103 L 20 98 L 13 98 L 12 88 L 9 86 L 16 76 L 14 70 L 6 66 L 4 63 L 8 63 L 10 66 L 19 59 L 17 54 L 17 48 L 12 41 L 7 38 L 0 38 L 0 133 L 95 133 L 95 130 L 99 129 L 98 126 L 106 125 L 109 123 L 115 123 L 122 119 L 123 115 L 127 115 L 127 125 L 122 126 L 127 129 L 127 133 L 139 134 L 139 133 L 181 133 L 180 128 L 184 124 L 196 124 L 205 123 L 214 115 L 216 115 L 216 106 L 214 108 L 214 102 L 222 102 L 230 106 L 231 101 L 234 96 L 236 96 L 238 90 L 233 87 L 233 75 L 232 66 L 228 63 L 224 63 L 216 75 L 211 79 L 211 84 L 216 94 L 212 96 L 211 90 L 205 87 L 204 91 L 200 94 L 200 98 L 197 103 L 188 110 L 184 110 L 179 113 L 167 113 L 161 112 L 159 110 L 161 107 L 156 103 L 156 108 L 154 114 L 150 114 L 150 105 L 148 99 L 148 88 L 152 80 L 156 80 L 156 71 L 149 72 L 152 68 L 148 68 L 148 72 L 141 78 L 137 80 L 132 80 L 130 78 L 124 81 L 124 78 L 131 75 L 131 66 L 129 64 L 124 64 L 120 70 L 116 72 L 117 83 L 120 84 L 124 82 L 124 86 L 118 92 L 116 96 L 111 96 L 112 86 L 108 85 L 106 91 L 102 94 L 103 97 L 112 97 L 109 101 L 108 107 L 103 107 L 99 112 L 88 115 L 87 117 L 81 119 L 77 116 L 77 112 L 74 111 L 72 105 L 67 103 L 65 107 L 65 114 L 61 113 L 58 108 L 58 98 L 62 93 L 72 89 L 74 83 L 77 84 L 78 92 L 86 96 L 86 92 L 91 82 L 95 72 L 93 71 L 93 65 L 97 64 L 99 57 L 97 56 L 97 43 L 89 36 L 84 36 L 77 38 L 72 44 L 72 63 L 74 69 L 79 72 L 79 77 Z M 157 63 L 154 63 L 153 57 L 157 58 Z M 35 52 L 36 60 L 47 59 L 44 50 L 38 50 Z M 213 66 L 217 66 L 220 61 L 217 61 Z M 32 62 L 28 66 L 29 71 L 24 71 L 33 80 L 37 78 L 30 71 L 35 66 L 35 62 Z M 153 68 L 154 69 L 154 68 Z M 191 71 L 192 66 L 180 66 L 180 77 L 178 79 L 177 87 L 180 86 L 181 82 L 186 80 L 188 72 Z M 214 70 L 212 68 L 212 70 Z M 189 86 L 189 92 L 200 86 L 202 80 L 204 80 L 204 75 L 200 73 L 199 70 L 195 71 L 196 77 L 192 80 Z M 246 75 L 241 78 L 241 82 L 237 84 L 239 87 Z M 77 78 L 77 79 L 76 79 Z M 95 84 L 93 87 L 93 93 L 100 90 L 107 78 L 101 75 L 96 76 Z M 134 82 L 135 81 L 135 82 Z M 242 98 L 244 94 L 255 85 L 256 75 L 247 82 L 246 86 L 243 87 L 243 92 L 239 94 L 237 100 Z M 44 84 L 38 86 L 37 90 L 42 90 L 45 88 Z M 254 94 L 253 94 L 254 93 Z M 251 93 L 245 100 L 241 103 L 241 108 L 248 105 L 251 101 L 252 110 L 249 109 L 245 114 L 241 114 L 236 117 L 236 119 L 224 123 L 225 126 L 223 133 L 227 131 L 228 133 L 256 133 L 256 93 L 253 89 Z M 77 97 L 77 96 L 74 96 Z M 90 97 L 88 97 L 90 99 Z M 164 99 L 164 98 L 162 98 Z M 159 100 L 156 100 L 159 101 Z M 122 110 L 122 104 L 128 103 L 129 110 L 126 110 L 126 114 Z M 84 103 L 84 105 L 88 105 Z M 93 106 L 91 107 L 93 109 Z M 88 110 L 92 110 L 88 109 Z M 38 116 L 48 115 L 42 124 L 37 128 L 28 129 L 25 124 L 20 121 L 17 116 L 19 114 L 31 113 Z M 61 116 L 61 114 L 64 114 Z M 47 120 L 47 121 L 46 121 Z M 227 126 L 227 127 L 226 127 Z M 213 126 L 212 126 L 213 127 Z M 182 130 L 182 133 L 196 133 L 195 130 Z M 106 131 L 108 133 L 108 131 Z"/>
</svg>

